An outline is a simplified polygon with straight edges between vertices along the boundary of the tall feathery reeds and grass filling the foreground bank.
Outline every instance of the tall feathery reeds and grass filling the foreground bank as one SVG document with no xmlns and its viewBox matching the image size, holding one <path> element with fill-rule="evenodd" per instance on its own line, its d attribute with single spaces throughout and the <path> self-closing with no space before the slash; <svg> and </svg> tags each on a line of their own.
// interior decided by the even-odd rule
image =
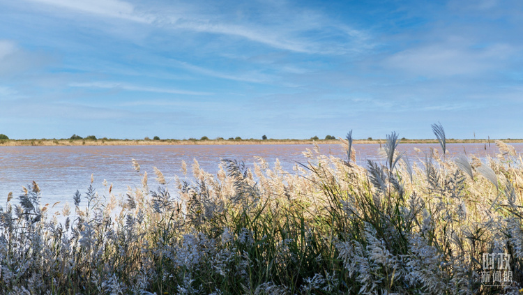
<svg viewBox="0 0 523 295">
<path fill-rule="evenodd" d="M 411 161 L 397 138 L 365 167 L 349 133 L 347 159 L 314 146 L 291 173 L 260 158 L 216 175 L 195 160 L 175 183 L 133 159 L 142 183 L 125 196 L 91 181 L 59 213 L 31 183 L 0 207 L 0 294 L 517 294 L 522 158 Z M 486 287 L 482 255 L 499 252 L 514 283 Z"/>
</svg>

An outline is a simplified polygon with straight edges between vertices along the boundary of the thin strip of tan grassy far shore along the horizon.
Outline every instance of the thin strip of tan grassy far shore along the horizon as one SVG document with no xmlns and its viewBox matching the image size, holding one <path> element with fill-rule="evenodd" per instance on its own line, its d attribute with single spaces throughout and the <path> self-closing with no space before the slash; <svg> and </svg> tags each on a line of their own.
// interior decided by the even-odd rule
<svg viewBox="0 0 523 295">
<path fill-rule="evenodd" d="M 447 144 L 522 143 L 523 139 L 447 139 Z M 0 146 L 160 146 L 160 145 L 250 145 L 250 144 L 340 144 L 339 139 L 3 139 Z M 386 139 L 354 139 L 353 144 L 385 144 Z M 402 139 L 400 144 L 438 144 L 437 139 Z"/>
</svg>

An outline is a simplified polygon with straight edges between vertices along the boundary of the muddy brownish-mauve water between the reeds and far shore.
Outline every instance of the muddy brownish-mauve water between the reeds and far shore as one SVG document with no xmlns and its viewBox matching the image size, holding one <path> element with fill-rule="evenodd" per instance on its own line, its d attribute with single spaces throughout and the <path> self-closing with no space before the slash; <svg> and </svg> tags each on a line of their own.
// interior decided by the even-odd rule
<svg viewBox="0 0 523 295">
<path fill-rule="evenodd" d="M 512 144 L 517 152 L 523 151 L 523 144 Z M 380 160 L 377 155 L 379 144 L 356 144 L 357 161 L 365 165 L 365 159 Z M 398 149 L 405 151 L 411 161 L 423 159 L 423 153 L 416 153 L 414 147 L 422 151 L 438 149 L 439 144 L 400 144 Z M 305 163 L 305 149 L 313 149 L 308 144 L 283 145 L 183 145 L 183 146 L 0 146 L 0 206 L 5 204 L 8 192 L 14 196 L 22 193 L 22 186 L 36 181 L 42 190 L 42 203 L 67 200 L 72 203 L 76 190 L 85 192 L 91 183 L 99 191 L 103 190 L 104 179 L 113 183 L 115 195 L 127 191 L 127 186 L 139 186 L 141 176 L 131 163 L 135 158 L 141 166 L 141 173 L 149 174 L 149 186 L 156 185 L 153 180 L 153 167 L 158 167 L 167 181 L 175 175 L 182 176 L 181 162 L 188 164 L 197 159 L 206 172 L 218 172 L 221 159 L 243 160 L 252 165 L 255 156 L 265 158 L 273 167 L 278 158 L 282 167 L 292 172 L 296 162 Z M 473 153 L 479 158 L 494 156 L 497 146 L 491 144 L 448 144 L 448 158 L 456 153 Z M 346 154 L 338 144 L 321 144 L 321 153 L 345 158 Z M 60 206 L 59 206 L 60 207 Z"/>
</svg>

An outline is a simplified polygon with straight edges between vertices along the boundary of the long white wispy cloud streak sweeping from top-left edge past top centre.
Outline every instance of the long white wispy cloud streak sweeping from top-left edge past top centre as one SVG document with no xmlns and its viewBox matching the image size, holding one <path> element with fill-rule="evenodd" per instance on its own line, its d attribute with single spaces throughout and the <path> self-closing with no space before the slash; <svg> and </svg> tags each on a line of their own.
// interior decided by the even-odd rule
<svg viewBox="0 0 523 295">
<path fill-rule="evenodd" d="M 45 4 L 58 9 L 72 10 L 77 13 L 130 20 L 169 30 L 195 31 L 213 33 L 237 38 L 243 38 L 280 50 L 307 54 L 346 54 L 370 47 L 366 41 L 368 36 L 357 30 L 331 20 L 314 10 L 303 10 L 296 6 L 278 5 L 282 9 L 277 15 L 273 8 L 260 10 L 262 21 L 250 20 L 250 17 L 232 17 L 224 19 L 222 11 L 206 11 L 201 7 L 184 7 L 155 10 L 154 6 L 146 6 L 140 10 L 132 3 L 121 0 L 26 0 Z M 179 3 L 172 4 L 176 7 Z M 217 17 L 218 15 L 218 17 Z M 252 18 L 252 17 L 251 17 Z M 271 21 L 263 20 L 269 18 Z M 275 22 L 273 18 L 285 21 Z M 308 37 L 314 32 L 312 38 Z M 318 40 L 321 39 L 321 40 Z M 330 40 L 328 40 L 330 39 Z M 328 46 L 325 42 L 328 40 Z M 364 45 L 366 44 L 366 45 Z"/>
</svg>

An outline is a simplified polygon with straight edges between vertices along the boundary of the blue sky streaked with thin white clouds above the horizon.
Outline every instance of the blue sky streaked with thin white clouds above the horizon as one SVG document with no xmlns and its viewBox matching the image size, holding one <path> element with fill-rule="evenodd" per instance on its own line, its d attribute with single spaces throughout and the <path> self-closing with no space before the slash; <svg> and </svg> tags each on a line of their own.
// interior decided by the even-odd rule
<svg viewBox="0 0 523 295">
<path fill-rule="evenodd" d="M 523 138 L 522 1 L 0 1 L 0 133 Z"/>
</svg>

